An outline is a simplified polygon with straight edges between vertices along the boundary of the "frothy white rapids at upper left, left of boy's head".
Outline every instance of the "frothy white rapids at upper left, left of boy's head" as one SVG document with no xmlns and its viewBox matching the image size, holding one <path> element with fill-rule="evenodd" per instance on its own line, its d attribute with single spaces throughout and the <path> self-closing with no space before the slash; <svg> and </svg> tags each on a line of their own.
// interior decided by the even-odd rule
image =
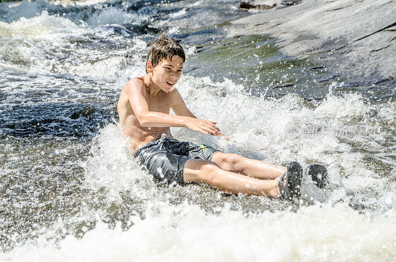
<svg viewBox="0 0 396 262">
<path fill-rule="evenodd" d="M 110 15 L 116 17 L 112 13 Z M 0 30 L 2 36 L 0 60 L 4 61 L 7 67 L 13 67 L 13 63 L 18 63 L 20 69 L 31 73 L 52 72 L 56 68 L 58 73 L 112 82 L 123 74 L 126 63 L 125 53 L 139 53 L 147 47 L 147 44 L 139 38 L 124 39 L 127 33 L 122 26 L 119 27 L 122 33 L 120 36 L 114 33 L 113 27 L 94 28 L 86 24 L 76 25 L 67 18 L 49 15 L 46 10 L 33 18 L 22 17 L 11 23 L 0 21 Z M 89 41 L 92 35 L 106 41 L 125 43 L 129 47 L 125 50 L 103 53 L 96 49 L 84 48 L 84 46 L 77 47 L 76 44 L 69 42 L 69 39 Z M 70 53 L 70 55 L 59 63 L 57 59 L 59 52 Z M 135 55 L 133 60 L 138 62 L 140 57 Z"/>
</svg>

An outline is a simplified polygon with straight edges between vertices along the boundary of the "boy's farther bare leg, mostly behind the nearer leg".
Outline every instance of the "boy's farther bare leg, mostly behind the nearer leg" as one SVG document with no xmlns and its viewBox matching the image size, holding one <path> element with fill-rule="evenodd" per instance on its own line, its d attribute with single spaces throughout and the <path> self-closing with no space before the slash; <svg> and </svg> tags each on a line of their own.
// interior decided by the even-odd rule
<svg viewBox="0 0 396 262">
<path fill-rule="evenodd" d="M 237 172 L 259 179 L 275 179 L 286 172 L 286 169 L 277 168 L 275 165 L 233 153 L 216 152 L 211 161 L 225 171 Z"/>
</svg>

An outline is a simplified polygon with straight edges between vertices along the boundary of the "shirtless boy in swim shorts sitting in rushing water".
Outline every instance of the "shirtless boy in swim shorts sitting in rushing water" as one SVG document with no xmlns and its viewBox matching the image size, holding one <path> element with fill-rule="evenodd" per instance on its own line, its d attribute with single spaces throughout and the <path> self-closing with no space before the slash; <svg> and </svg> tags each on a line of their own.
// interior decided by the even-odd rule
<svg viewBox="0 0 396 262">
<path fill-rule="evenodd" d="M 147 74 L 131 79 L 122 90 L 117 110 L 135 158 L 157 182 L 204 182 L 230 193 L 297 198 L 302 179 L 297 162 L 291 162 L 285 172 L 272 164 L 172 137 L 170 127 L 222 135 L 216 122 L 196 118 L 174 87 L 185 59 L 182 46 L 164 32 L 148 47 Z M 170 109 L 176 115 L 169 115 Z M 320 171 L 324 179 L 327 173 Z"/>
</svg>

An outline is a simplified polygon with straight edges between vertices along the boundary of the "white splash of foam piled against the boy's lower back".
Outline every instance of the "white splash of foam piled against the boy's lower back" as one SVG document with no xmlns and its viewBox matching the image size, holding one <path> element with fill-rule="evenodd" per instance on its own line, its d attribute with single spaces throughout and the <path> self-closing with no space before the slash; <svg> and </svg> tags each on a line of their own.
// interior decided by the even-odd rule
<svg viewBox="0 0 396 262">
<path fill-rule="evenodd" d="M 119 200 L 119 192 L 124 190 L 131 190 L 142 199 L 157 190 L 152 178 L 140 170 L 134 160 L 121 127 L 110 124 L 100 130 L 92 141 L 90 153 L 92 157 L 80 163 L 87 188 L 104 188 L 110 200 Z"/>
</svg>

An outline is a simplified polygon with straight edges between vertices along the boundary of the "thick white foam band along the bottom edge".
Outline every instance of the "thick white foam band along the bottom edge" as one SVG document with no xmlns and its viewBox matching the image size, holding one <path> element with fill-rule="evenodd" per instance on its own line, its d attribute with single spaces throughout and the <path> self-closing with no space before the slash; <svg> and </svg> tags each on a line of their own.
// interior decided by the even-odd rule
<svg viewBox="0 0 396 262">
<path fill-rule="evenodd" d="M 125 232 L 98 222 L 81 240 L 61 240 L 60 249 L 26 245 L 1 256 L 7 261 L 383 261 L 396 256 L 395 220 L 370 221 L 346 204 L 245 217 L 228 207 L 215 216 L 188 204 L 152 203 L 144 220 L 131 220 L 135 224 Z"/>
</svg>

